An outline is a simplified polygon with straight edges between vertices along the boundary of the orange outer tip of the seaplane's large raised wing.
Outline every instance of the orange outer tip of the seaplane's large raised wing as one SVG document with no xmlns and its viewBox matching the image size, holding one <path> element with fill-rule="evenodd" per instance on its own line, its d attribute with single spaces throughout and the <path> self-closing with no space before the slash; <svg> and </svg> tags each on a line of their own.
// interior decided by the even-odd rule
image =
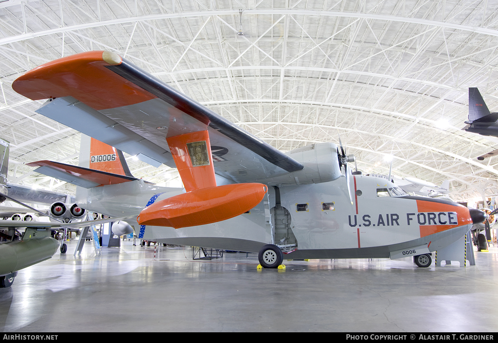
<svg viewBox="0 0 498 343">
<path fill-rule="evenodd" d="M 12 83 L 12 89 L 31 100 L 71 96 L 95 110 L 112 109 L 154 99 L 106 66 L 121 57 L 109 51 L 88 51 L 36 67 Z"/>
</svg>

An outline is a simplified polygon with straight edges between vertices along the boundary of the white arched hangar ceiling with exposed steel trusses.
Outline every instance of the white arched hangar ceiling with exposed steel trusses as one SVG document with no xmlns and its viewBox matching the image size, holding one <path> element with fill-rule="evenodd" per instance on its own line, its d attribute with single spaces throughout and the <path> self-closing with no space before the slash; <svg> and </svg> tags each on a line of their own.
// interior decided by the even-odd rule
<svg viewBox="0 0 498 343">
<path fill-rule="evenodd" d="M 498 1 L 0 1 L 0 138 L 9 181 L 74 193 L 24 163 L 76 164 L 80 134 L 11 89 L 40 64 L 110 50 L 287 151 L 338 143 L 364 173 L 496 195 L 498 139 L 465 132 L 468 88 L 498 111 Z M 243 34 L 238 34 L 242 32 Z M 127 158 L 162 184 L 174 170 Z"/>
</svg>

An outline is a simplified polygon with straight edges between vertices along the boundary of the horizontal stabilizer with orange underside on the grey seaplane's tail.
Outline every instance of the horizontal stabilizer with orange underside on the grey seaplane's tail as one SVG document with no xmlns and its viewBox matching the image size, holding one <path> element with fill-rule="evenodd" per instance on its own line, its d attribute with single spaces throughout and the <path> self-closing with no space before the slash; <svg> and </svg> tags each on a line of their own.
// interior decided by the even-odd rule
<svg viewBox="0 0 498 343">
<path fill-rule="evenodd" d="M 134 177 L 112 174 L 52 161 L 37 161 L 27 163 L 27 165 L 30 167 L 39 166 L 39 168 L 35 170 L 37 173 L 84 188 L 115 185 L 123 182 L 138 180 Z"/>
</svg>

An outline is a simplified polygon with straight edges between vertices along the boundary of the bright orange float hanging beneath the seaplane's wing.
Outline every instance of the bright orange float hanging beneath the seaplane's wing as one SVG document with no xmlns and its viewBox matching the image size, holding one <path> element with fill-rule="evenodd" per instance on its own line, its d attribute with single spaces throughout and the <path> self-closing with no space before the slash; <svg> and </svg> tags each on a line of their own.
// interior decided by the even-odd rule
<svg viewBox="0 0 498 343">
<path fill-rule="evenodd" d="M 158 201 L 140 212 L 140 225 L 175 229 L 211 224 L 248 212 L 267 192 L 260 183 L 239 183 L 198 189 Z"/>
</svg>

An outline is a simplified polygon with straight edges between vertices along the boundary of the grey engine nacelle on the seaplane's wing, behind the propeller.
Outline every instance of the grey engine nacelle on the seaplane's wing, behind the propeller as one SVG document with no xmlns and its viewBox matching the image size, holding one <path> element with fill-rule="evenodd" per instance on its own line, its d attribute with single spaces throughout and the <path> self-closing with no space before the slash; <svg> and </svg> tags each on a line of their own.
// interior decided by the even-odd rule
<svg viewBox="0 0 498 343">
<path fill-rule="evenodd" d="M 283 176 L 268 179 L 269 185 L 304 185 L 337 180 L 341 167 L 337 157 L 337 145 L 317 143 L 296 148 L 287 155 L 301 163 L 304 168 Z"/>
</svg>

